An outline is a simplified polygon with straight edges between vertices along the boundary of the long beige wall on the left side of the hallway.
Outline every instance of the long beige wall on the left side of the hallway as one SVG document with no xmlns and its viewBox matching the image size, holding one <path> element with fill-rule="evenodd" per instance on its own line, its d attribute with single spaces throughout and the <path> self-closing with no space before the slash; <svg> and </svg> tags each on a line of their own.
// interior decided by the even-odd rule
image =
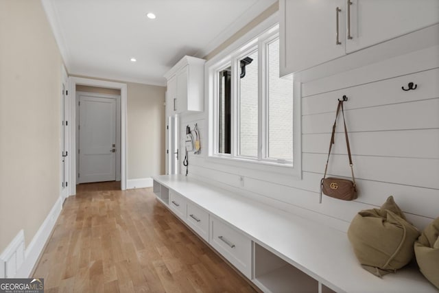
<svg viewBox="0 0 439 293">
<path fill-rule="evenodd" d="M 0 253 L 60 196 L 62 60 L 40 1 L 0 0 Z"/>
</svg>

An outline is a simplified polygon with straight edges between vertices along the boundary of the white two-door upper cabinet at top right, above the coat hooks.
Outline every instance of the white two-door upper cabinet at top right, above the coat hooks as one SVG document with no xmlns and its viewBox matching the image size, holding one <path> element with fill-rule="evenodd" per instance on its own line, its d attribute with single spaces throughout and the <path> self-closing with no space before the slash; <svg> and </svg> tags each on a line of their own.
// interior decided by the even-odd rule
<svg viewBox="0 0 439 293">
<path fill-rule="evenodd" d="M 439 0 L 280 0 L 281 76 L 439 23 Z"/>
</svg>

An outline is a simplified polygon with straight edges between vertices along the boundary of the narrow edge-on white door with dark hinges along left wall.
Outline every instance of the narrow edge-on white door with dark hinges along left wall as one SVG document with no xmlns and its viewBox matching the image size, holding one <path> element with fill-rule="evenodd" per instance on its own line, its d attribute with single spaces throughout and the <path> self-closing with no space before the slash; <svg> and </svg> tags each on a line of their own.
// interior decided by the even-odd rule
<svg viewBox="0 0 439 293">
<path fill-rule="evenodd" d="M 69 101 L 67 99 L 67 73 L 62 82 L 61 95 L 61 197 L 69 196 Z"/>
</svg>

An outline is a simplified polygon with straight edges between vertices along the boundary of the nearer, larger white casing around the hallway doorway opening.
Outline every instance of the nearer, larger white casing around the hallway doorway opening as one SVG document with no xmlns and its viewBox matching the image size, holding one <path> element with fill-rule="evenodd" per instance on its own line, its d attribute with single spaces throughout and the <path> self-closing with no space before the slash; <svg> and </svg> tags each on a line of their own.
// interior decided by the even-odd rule
<svg viewBox="0 0 439 293">
<path fill-rule="evenodd" d="M 121 189 L 126 190 L 126 181 L 128 178 L 128 162 L 126 158 L 126 146 L 127 146 L 127 84 L 121 82 L 108 82 L 106 80 L 93 80 L 91 78 L 78 78 L 75 76 L 70 77 L 70 93 L 72 97 L 76 97 L 76 85 L 83 86 L 97 86 L 106 89 L 119 89 L 121 91 Z M 71 101 L 71 131 L 70 131 L 70 148 L 76 150 L 76 99 L 70 99 Z M 76 151 L 72 152 L 70 157 L 70 181 L 71 181 L 71 195 L 76 194 Z"/>
</svg>

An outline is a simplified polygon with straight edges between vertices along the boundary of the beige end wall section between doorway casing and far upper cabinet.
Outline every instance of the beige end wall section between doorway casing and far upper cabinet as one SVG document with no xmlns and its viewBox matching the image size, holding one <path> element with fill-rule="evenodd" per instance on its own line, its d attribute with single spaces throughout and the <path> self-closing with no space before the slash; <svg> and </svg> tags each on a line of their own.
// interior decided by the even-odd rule
<svg viewBox="0 0 439 293">
<path fill-rule="evenodd" d="M 128 83 L 128 179 L 165 174 L 165 91 Z"/>
</svg>

